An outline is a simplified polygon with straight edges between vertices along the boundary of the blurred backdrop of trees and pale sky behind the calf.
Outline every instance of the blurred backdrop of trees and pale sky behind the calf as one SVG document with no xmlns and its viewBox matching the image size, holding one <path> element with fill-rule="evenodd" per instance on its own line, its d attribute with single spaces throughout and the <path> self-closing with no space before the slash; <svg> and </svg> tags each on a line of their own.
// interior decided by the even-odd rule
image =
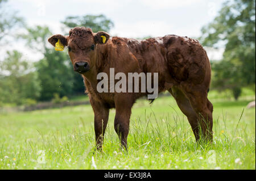
<svg viewBox="0 0 256 181">
<path fill-rule="evenodd" d="M 77 26 L 135 39 L 195 38 L 212 64 L 211 91 L 234 100 L 243 92 L 255 97 L 255 1 L 0 0 L 0 108 L 88 103 L 67 50 L 47 42 Z"/>
</svg>

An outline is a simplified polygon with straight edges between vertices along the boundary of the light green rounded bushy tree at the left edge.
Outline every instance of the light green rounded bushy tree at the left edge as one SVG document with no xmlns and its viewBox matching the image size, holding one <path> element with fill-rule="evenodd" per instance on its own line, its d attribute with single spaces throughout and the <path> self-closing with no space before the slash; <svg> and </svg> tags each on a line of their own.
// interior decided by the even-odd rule
<svg viewBox="0 0 256 181">
<path fill-rule="evenodd" d="M 39 98 L 38 73 L 31 71 L 31 67 L 22 60 L 22 53 L 7 52 L 5 60 L 0 62 L 0 102 L 22 104 L 27 98 Z"/>
</svg>

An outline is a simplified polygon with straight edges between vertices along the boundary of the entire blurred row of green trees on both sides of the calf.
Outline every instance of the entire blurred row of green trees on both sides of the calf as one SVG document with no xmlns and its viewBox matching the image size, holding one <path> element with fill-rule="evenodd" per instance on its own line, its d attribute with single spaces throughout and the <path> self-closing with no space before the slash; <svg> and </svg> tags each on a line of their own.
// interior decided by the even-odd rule
<svg viewBox="0 0 256 181">
<path fill-rule="evenodd" d="M 11 39 L 24 41 L 26 47 L 41 52 L 43 58 L 32 63 L 18 50 L 7 50 L 0 59 L 0 106 L 2 104 L 34 104 L 53 98 L 83 94 L 81 75 L 73 71 L 67 50 L 55 51 L 47 42 L 50 27 L 28 27 L 15 12 L 5 11 L 0 0 L 0 47 Z M 63 32 L 73 27 L 90 27 L 93 32 L 109 32 L 114 26 L 104 15 L 68 16 L 61 22 Z M 19 28 L 26 32 L 20 33 Z M 19 33 L 17 33 L 19 32 Z M 255 92 L 255 1 L 235 0 L 222 5 L 213 22 L 201 29 L 200 43 L 224 47 L 223 58 L 211 61 L 211 89 L 232 90 L 238 99 L 243 87 Z"/>
</svg>

